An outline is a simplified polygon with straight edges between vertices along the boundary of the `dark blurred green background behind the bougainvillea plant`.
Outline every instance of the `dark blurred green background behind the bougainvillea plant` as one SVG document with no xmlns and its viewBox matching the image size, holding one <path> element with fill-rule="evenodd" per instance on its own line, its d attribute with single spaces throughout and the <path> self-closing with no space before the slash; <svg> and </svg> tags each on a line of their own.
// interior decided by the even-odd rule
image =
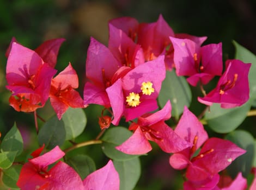
<svg viewBox="0 0 256 190">
<path fill-rule="evenodd" d="M 2 136 L 13 126 L 14 121 L 26 136 L 28 144 L 36 140 L 33 115 L 19 113 L 9 106 L 10 92 L 5 89 L 4 56 L 11 37 L 15 36 L 23 46 L 31 49 L 43 41 L 63 37 L 66 41 L 60 48 L 56 69 L 62 71 L 69 62 L 76 69 L 80 79 L 82 95 L 85 78 L 85 61 L 89 37 L 107 45 L 108 20 L 115 17 L 131 16 L 139 22 L 156 22 L 159 14 L 173 28 L 175 33 L 208 36 L 208 43 L 223 43 L 223 58 L 233 58 L 232 40 L 256 54 L 256 1 L 254 0 L 0 0 L 0 131 Z M 84 135 L 94 138 L 100 131 L 97 116 L 99 106 L 86 109 L 88 126 Z M 196 108 L 193 108 L 196 110 Z M 54 112 L 48 104 L 39 113 L 50 118 Z M 95 124 L 96 123 L 96 124 Z M 41 123 L 39 123 L 41 124 Z M 33 144 L 35 147 L 37 143 Z M 31 146 L 31 145 L 30 145 Z M 26 148 L 26 147 L 25 147 Z M 85 148 L 99 163 L 106 159 L 97 150 Z M 179 189 L 181 176 L 175 175 L 168 164 L 169 156 L 161 151 L 152 151 L 141 158 L 142 176 L 136 189 Z M 180 182 L 179 182 L 180 181 Z"/>
</svg>

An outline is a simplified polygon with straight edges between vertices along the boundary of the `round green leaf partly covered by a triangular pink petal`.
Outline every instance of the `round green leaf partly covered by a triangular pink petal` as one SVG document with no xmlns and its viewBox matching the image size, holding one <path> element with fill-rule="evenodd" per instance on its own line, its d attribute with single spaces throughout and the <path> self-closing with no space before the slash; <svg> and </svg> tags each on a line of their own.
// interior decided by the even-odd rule
<svg viewBox="0 0 256 190">
<path fill-rule="evenodd" d="M 131 131 L 121 126 L 115 126 L 114 128 L 108 129 L 101 139 L 103 141 L 101 144 L 103 153 L 107 157 L 117 161 L 124 161 L 138 157 L 138 155 L 128 155 L 115 149 L 115 147 L 126 141 L 131 135 Z"/>
</svg>

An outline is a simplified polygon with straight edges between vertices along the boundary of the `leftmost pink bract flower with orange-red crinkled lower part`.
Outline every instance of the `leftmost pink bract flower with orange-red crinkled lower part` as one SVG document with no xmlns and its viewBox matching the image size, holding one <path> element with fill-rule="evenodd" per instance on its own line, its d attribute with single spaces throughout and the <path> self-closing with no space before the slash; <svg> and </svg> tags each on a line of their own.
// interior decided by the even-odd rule
<svg viewBox="0 0 256 190">
<path fill-rule="evenodd" d="M 7 88 L 12 92 L 10 105 L 24 112 L 44 106 L 56 72 L 36 52 L 13 42 L 6 68 Z"/>
</svg>

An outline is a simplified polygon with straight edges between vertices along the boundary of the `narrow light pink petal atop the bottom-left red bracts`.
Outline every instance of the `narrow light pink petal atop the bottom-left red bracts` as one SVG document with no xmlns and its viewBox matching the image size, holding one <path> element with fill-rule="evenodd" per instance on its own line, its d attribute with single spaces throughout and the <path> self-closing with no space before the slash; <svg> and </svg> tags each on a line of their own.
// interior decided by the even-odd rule
<svg viewBox="0 0 256 190">
<path fill-rule="evenodd" d="M 38 169 L 44 169 L 50 164 L 56 162 L 57 160 L 61 159 L 65 153 L 60 150 L 58 146 L 53 148 L 52 150 L 48 151 L 47 153 L 35 157 L 33 159 L 29 159 L 29 162 L 34 165 L 34 167 Z"/>
</svg>

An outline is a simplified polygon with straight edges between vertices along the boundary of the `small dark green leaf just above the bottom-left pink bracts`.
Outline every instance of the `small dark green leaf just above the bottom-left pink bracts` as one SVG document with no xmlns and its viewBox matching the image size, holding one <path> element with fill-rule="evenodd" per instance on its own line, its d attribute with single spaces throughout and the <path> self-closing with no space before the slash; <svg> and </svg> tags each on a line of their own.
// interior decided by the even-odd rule
<svg viewBox="0 0 256 190">
<path fill-rule="evenodd" d="M 76 170 L 82 180 L 96 170 L 93 159 L 87 155 L 72 156 L 66 162 Z"/>
</svg>

